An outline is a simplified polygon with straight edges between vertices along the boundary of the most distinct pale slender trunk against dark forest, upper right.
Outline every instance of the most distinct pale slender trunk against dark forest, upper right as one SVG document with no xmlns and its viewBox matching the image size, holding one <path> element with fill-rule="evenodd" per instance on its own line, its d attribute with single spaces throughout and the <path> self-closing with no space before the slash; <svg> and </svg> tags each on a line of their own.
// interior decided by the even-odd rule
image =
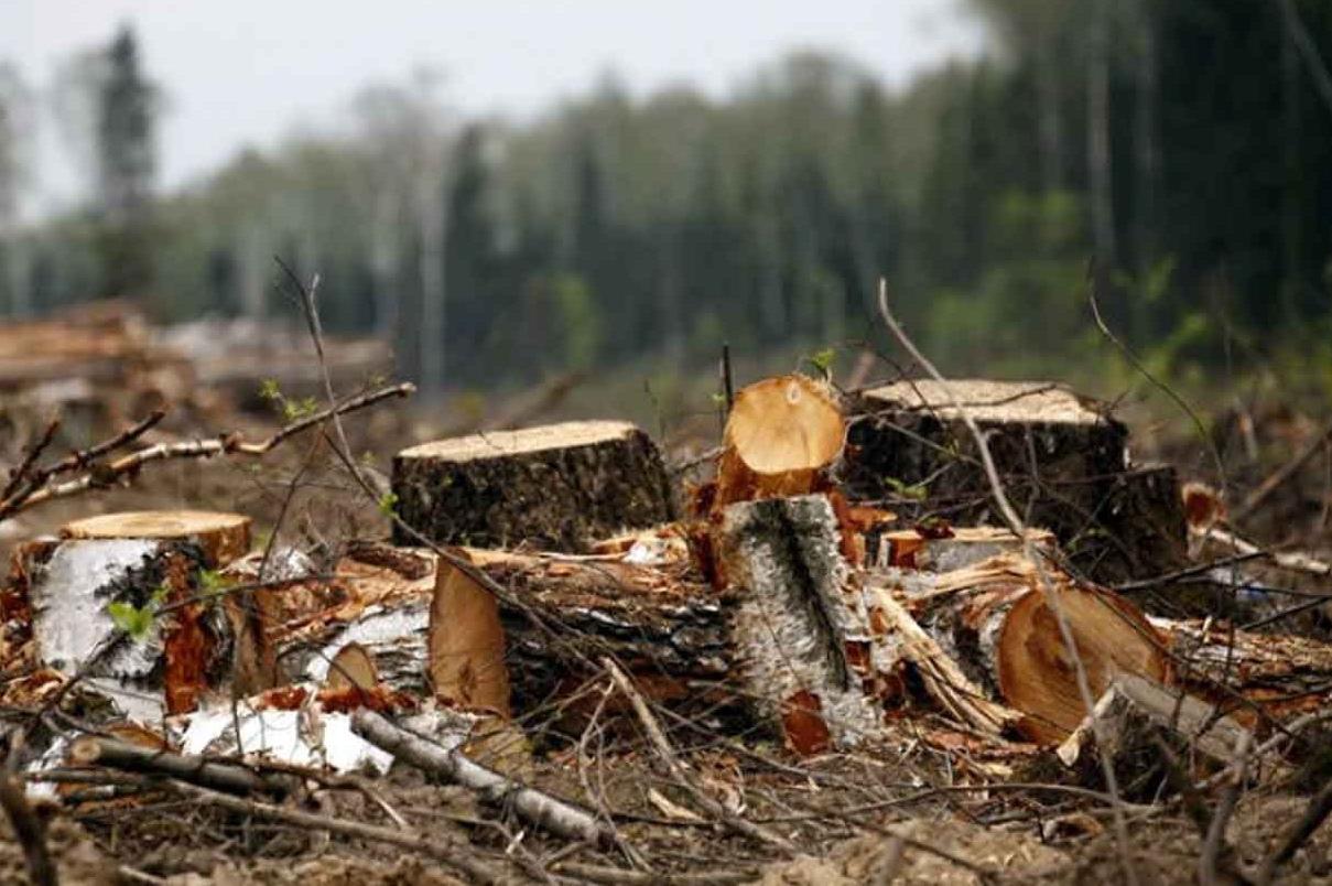
<svg viewBox="0 0 1332 886">
<path fill-rule="evenodd" d="M 1094 0 L 1087 51 L 1087 165 L 1098 277 L 1118 261 L 1110 159 L 1110 0 Z"/>
</svg>

